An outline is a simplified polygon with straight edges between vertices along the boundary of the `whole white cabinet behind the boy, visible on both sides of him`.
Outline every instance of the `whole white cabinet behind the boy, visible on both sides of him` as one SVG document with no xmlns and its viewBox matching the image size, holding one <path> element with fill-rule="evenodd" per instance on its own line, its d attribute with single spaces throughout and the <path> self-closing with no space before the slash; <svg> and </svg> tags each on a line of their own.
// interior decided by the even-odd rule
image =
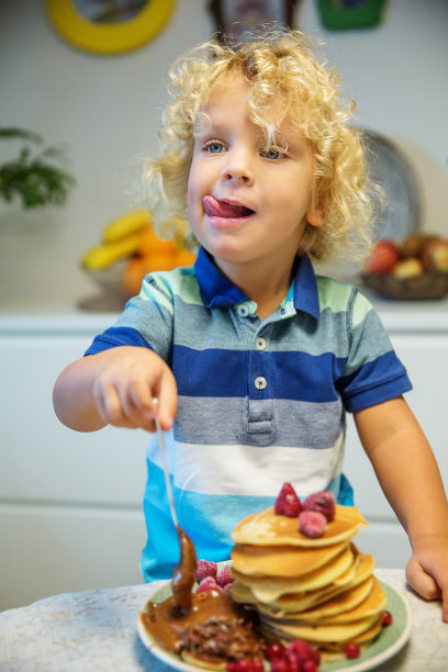
<svg viewBox="0 0 448 672">
<path fill-rule="evenodd" d="M 407 400 L 448 488 L 448 303 L 391 302 L 378 309 L 413 381 Z M 110 427 L 78 434 L 60 425 L 52 405 L 59 371 L 114 318 L 0 316 L 0 609 L 54 593 L 142 581 L 147 435 Z M 358 546 L 374 553 L 378 565 L 404 567 L 407 538 L 351 422 L 346 472 L 370 524 Z"/>
</svg>

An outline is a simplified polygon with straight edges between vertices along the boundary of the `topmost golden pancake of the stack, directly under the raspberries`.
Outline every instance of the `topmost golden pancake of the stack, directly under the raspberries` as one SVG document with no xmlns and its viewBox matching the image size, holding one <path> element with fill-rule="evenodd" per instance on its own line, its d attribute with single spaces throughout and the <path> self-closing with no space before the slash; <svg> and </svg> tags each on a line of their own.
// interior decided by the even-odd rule
<svg viewBox="0 0 448 672">
<path fill-rule="evenodd" d="M 306 537 L 299 529 L 298 518 L 277 515 L 273 506 L 243 518 L 232 533 L 235 544 L 254 546 L 299 546 L 320 548 L 348 541 L 367 522 L 356 506 L 336 505 L 335 517 L 322 537 Z"/>
</svg>

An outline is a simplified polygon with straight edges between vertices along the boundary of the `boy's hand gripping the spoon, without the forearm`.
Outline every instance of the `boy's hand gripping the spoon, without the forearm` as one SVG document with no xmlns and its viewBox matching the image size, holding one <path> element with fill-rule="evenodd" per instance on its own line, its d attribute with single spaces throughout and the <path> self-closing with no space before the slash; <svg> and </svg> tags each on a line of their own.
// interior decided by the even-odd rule
<svg viewBox="0 0 448 672">
<path fill-rule="evenodd" d="M 92 394 L 102 421 L 114 427 L 155 432 L 156 413 L 163 429 L 172 427 L 177 408 L 176 380 L 153 350 L 127 346 L 108 350 L 93 380 Z"/>
</svg>

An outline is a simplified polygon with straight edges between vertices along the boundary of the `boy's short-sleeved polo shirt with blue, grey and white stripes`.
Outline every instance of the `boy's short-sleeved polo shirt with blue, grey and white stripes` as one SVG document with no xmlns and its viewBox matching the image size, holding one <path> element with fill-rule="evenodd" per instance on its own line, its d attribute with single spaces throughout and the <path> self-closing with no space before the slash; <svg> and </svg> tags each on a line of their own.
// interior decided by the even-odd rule
<svg viewBox="0 0 448 672">
<path fill-rule="evenodd" d="M 171 368 L 179 400 L 166 447 L 175 505 L 198 557 L 209 560 L 229 557 L 232 529 L 271 506 L 285 481 L 302 497 L 328 489 L 351 504 L 345 412 L 411 389 L 368 300 L 315 276 L 306 256 L 277 311 L 264 321 L 256 311 L 201 248 L 194 268 L 148 275 L 86 352 L 147 347 Z M 179 545 L 155 438 L 144 511 L 143 574 L 170 576 Z"/>
</svg>

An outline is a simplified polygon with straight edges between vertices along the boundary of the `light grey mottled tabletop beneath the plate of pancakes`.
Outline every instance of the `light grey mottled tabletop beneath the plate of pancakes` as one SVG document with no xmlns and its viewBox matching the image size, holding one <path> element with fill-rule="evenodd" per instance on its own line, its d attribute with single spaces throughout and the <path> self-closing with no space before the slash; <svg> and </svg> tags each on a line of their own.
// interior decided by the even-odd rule
<svg viewBox="0 0 448 672">
<path fill-rule="evenodd" d="M 381 672 L 446 672 L 448 625 L 439 603 L 418 597 L 402 570 L 376 574 L 405 595 L 413 619 L 410 642 Z M 0 670 L 168 672 L 136 632 L 139 608 L 161 583 L 65 593 L 1 613 Z"/>
</svg>

